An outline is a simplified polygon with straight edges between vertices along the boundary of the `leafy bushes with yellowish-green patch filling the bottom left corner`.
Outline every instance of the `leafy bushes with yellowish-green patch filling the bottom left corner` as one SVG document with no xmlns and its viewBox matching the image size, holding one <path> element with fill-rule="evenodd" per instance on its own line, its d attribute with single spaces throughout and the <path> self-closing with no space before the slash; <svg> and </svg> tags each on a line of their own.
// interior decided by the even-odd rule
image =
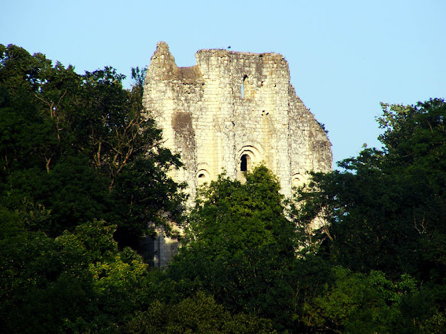
<svg viewBox="0 0 446 334">
<path fill-rule="evenodd" d="M 107 333 L 124 324 L 145 305 L 147 265 L 128 248 L 118 251 L 114 230 L 94 221 L 56 239 L 25 232 L 0 241 L 1 328 L 62 333 L 84 326 Z"/>
</svg>

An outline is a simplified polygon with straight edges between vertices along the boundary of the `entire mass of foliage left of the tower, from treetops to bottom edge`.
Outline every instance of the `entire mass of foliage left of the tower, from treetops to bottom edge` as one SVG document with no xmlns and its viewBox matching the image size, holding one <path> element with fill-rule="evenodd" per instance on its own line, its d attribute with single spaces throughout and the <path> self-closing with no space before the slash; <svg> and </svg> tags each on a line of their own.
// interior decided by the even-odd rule
<svg viewBox="0 0 446 334">
<path fill-rule="evenodd" d="M 125 246 L 179 221 L 183 185 L 133 72 L 126 90 L 112 67 L 79 75 L 0 45 L 2 333 L 119 333 L 153 303 Z"/>
</svg>

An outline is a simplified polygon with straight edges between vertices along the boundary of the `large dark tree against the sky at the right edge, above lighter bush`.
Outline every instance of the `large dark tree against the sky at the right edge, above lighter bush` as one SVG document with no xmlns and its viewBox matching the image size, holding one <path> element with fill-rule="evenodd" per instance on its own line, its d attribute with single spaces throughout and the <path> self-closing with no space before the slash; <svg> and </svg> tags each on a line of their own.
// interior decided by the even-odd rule
<svg viewBox="0 0 446 334">
<path fill-rule="evenodd" d="M 443 100 L 383 106 L 384 150 L 365 148 L 343 172 L 314 175 L 300 192 L 300 218 L 325 210 L 324 246 L 353 270 L 440 277 L 445 270 L 446 132 Z"/>
</svg>

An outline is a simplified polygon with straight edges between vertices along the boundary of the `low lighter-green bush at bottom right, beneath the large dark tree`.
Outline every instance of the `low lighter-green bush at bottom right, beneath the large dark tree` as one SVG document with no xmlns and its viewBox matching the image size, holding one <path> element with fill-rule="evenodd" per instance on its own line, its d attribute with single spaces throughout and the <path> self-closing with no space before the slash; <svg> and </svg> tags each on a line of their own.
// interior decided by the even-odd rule
<svg viewBox="0 0 446 334">
<path fill-rule="evenodd" d="M 413 333 L 415 321 L 399 307 L 404 296 L 417 293 L 413 278 L 392 282 L 380 271 L 364 275 L 341 267 L 332 275 L 334 283 L 304 305 L 308 326 L 330 333 Z"/>
</svg>

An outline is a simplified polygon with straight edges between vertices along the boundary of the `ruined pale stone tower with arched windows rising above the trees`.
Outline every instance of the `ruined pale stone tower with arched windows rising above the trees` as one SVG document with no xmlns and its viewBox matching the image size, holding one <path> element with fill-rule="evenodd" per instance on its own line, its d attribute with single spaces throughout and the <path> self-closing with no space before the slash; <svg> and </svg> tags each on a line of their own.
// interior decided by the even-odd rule
<svg viewBox="0 0 446 334">
<path fill-rule="evenodd" d="M 185 164 L 174 180 L 187 182 L 192 198 L 223 171 L 243 180 L 259 163 L 285 196 L 305 172 L 331 170 L 331 143 L 295 94 L 282 55 L 203 49 L 195 57 L 197 65 L 177 67 L 159 42 L 144 84 L 146 112 Z"/>
</svg>

